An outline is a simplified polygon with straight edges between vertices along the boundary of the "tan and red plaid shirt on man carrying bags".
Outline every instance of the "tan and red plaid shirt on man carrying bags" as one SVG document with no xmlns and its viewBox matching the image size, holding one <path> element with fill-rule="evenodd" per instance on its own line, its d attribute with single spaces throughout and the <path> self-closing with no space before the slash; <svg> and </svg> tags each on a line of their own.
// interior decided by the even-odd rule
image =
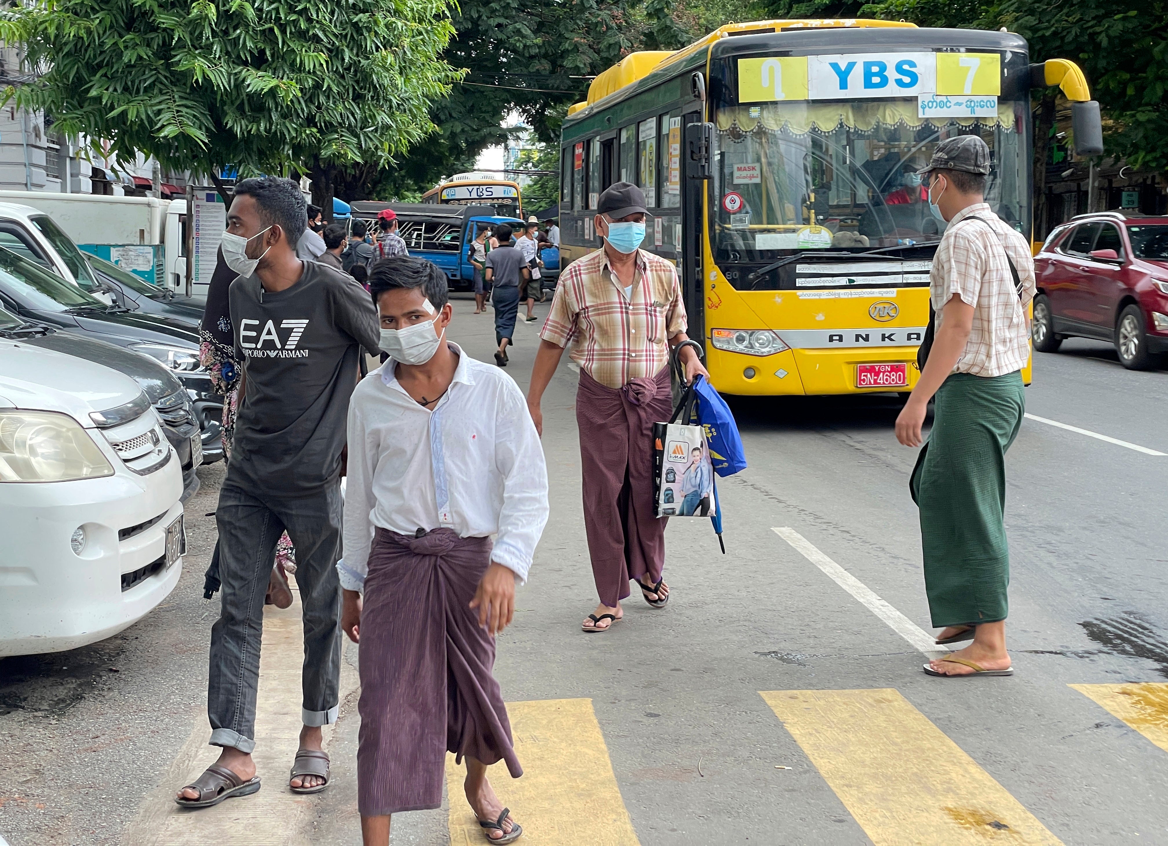
<svg viewBox="0 0 1168 846">
<path fill-rule="evenodd" d="M 568 347 L 588 375 L 609 388 L 653 377 L 669 361 L 669 339 L 686 331 L 677 270 L 637 251 L 632 297 L 609 266 L 604 249 L 564 270 L 540 337 Z"/>
</svg>

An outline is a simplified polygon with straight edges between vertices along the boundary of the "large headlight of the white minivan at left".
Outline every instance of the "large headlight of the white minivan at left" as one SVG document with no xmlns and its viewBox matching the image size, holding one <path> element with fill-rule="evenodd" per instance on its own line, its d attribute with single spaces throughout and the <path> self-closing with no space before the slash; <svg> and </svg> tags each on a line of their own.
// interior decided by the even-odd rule
<svg viewBox="0 0 1168 846">
<path fill-rule="evenodd" d="M 102 476 L 113 476 L 113 466 L 72 417 L 53 411 L 0 411 L 0 483 Z"/>
</svg>

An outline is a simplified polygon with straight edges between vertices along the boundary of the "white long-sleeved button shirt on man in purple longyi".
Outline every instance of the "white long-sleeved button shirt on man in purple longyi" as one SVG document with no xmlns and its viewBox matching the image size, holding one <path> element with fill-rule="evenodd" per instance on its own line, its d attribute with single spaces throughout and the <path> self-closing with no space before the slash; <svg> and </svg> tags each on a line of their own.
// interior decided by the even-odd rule
<svg viewBox="0 0 1168 846">
<path fill-rule="evenodd" d="M 498 535 L 491 560 L 527 581 L 548 521 L 548 470 L 523 393 L 466 355 L 433 411 L 397 381 L 389 359 L 353 391 L 341 587 L 362 590 L 374 528 L 412 535 L 452 528 Z"/>
</svg>

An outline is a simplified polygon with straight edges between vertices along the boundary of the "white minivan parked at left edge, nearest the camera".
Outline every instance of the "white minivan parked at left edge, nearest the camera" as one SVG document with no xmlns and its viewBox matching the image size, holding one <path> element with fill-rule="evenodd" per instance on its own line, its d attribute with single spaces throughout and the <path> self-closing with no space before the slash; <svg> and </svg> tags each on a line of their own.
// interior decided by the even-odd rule
<svg viewBox="0 0 1168 846">
<path fill-rule="evenodd" d="M 182 469 L 138 383 L 0 341 L 0 657 L 116 634 L 179 581 Z"/>
</svg>

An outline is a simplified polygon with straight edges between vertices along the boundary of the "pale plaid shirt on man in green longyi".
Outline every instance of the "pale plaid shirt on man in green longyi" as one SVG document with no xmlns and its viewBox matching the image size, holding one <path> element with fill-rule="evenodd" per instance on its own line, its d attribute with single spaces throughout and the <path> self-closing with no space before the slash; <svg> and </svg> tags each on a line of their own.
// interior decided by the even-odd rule
<svg viewBox="0 0 1168 846">
<path fill-rule="evenodd" d="M 971 215 L 986 223 L 968 220 Z M 1021 299 L 1007 252 L 1022 280 Z M 1026 238 L 995 215 L 989 203 L 969 206 L 953 216 L 933 256 L 929 282 L 938 332 L 941 308 L 954 293 L 973 306 L 969 340 L 953 373 L 1001 376 L 1026 366 L 1030 356 L 1026 306 L 1036 291 L 1034 257 Z"/>
</svg>

